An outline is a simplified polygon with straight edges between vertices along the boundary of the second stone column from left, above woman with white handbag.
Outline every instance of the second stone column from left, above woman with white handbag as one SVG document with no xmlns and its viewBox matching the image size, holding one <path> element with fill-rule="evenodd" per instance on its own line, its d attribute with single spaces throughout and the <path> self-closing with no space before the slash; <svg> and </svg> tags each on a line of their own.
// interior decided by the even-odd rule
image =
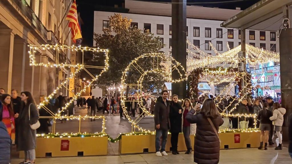
<svg viewBox="0 0 292 164">
<path fill-rule="evenodd" d="M 19 92 L 24 91 L 25 77 L 25 53 L 27 42 L 25 39 L 15 36 L 13 46 L 12 83 L 11 88 Z"/>
</svg>

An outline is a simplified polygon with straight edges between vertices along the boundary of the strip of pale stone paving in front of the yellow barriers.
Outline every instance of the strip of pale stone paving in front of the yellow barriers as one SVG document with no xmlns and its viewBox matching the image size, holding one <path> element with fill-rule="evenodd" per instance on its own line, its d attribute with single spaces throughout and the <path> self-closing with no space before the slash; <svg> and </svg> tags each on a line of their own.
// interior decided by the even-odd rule
<svg viewBox="0 0 292 164">
<path fill-rule="evenodd" d="M 13 159 L 12 164 L 21 162 L 21 159 Z M 36 163 L 40 164 L 158 164 L 158 163 L 179 163 L 191 164 L 193 153 L 157 157 L 155 153 L 123 155 L 123 156 L 88 156 L 88 157 L 60 157 L 60 158 L 37 158 Z M 291 157 L 286 147 L 281 151 L 272 148 L 264 151 L 258 149 L 229 149 L 220 151 L 219 164 L 292 164 Z"/>
</svg>

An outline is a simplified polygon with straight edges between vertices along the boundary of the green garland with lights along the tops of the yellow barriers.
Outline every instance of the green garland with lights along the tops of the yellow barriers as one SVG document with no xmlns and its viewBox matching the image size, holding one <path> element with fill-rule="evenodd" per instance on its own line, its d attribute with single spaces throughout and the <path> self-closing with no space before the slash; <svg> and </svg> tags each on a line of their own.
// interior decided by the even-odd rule
<svg viewBox="0 0 292 164">
<path fill-rule="evenodd" d="M 219 133 L 234 133 L 234 132 L 259 132 L 258 128 L 248 128 L 248 129 L 225 129 L 219 130 Z M 168 134 L 170 134 L 168 132 Z M 48 134 L 37 134 L 36 137 L 38 138 L 62 138 L 62 137 L 108 137 L 108 140 L 112 143 L 118 142 L 123 135 L 155 135 L 155 132 L 131 132 L 131 133 L 120 133 L 118 137 L 112 138 L 106 133 L 48 133 Z"/>
</svg>

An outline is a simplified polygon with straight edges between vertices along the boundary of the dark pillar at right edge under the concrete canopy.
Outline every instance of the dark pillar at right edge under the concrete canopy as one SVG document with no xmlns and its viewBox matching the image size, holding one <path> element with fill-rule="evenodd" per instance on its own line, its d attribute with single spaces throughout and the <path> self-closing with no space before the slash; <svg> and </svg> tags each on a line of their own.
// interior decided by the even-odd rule
<svg viewBox="0 0 292 164">
<path fill-rule="evenodd" d="M 279 38 L 282 107 L 286 109 L 283 140 L 288 141 L 289 116 L 292 113 L 292 29 L 283 29 Z"/>
</svg>

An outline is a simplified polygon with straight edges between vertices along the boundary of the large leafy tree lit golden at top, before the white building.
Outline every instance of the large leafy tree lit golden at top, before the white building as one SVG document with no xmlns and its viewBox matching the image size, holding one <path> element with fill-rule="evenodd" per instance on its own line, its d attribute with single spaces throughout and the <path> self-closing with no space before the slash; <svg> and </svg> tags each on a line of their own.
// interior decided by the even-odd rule
<svg viewBox="0 0 292 164">
<path fill-rule="evenodd" d="M 124 69 L 132 60 L 144 53 L 158 52 L 165 46 L 160 42 L 159 37 L 154 37 L 154 34 L 150 33 L 149 30 L 131 26 L 131 22 L 131 19 L 123 18 L 121 14 L 114 14 L 109 17 L 110 28 L 104 28 L 103 34 L 94 34 L 95 47 L 109 49 L 109 70 L 102 74 L 95 86 L 116 86 L 117 88 L 121 83 Z M 100 60 L 99 56 L 94 54 L 91 62 L 97 63 L 100 61 L 103 60 Z M 148 69 L 151 62 L 145 60 L 141 64 L 143 64 L 143 69 Z M 96 69 L 92 71 L 94 72 Z M 129 82 L 134 82 L 134 79 L 140 76 L 137 70 L 129 70 L 128 73 L 129 78 L 127 80 Z M 164 81 L 157 75 L 151 77 L 147 78 L 149 80 L 145 79 L 144 89 L 153 90 L 152 83 L 161 88 Z"/>
</svg>

